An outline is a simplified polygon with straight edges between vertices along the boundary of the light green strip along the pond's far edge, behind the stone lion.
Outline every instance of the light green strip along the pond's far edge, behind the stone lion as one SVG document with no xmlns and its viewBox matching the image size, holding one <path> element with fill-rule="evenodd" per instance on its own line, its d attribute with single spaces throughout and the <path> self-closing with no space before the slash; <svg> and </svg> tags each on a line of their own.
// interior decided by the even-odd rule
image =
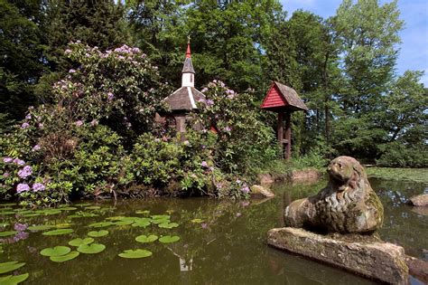
<svg viewBox="0 0 428 285">
<path fill-rule="evenodd" d="M 428 184 L 428 168 L 366 167 L 368 177 Z"/>
</svg>

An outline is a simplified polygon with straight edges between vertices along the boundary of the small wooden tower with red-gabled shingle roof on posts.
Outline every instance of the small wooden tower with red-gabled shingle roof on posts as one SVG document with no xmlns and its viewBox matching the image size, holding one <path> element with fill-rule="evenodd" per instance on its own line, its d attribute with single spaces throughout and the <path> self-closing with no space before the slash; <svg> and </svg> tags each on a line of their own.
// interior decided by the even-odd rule
<svg viewBox="0 0 428 285">
<path fill-rule="evenodd" d="M 292 112 L 299 110 L 307 111 L 308 107 L 306 107 L 293 88 L 285 86 L 277 81 L 273 81 L 270 89 L 267 91 L 261 108 L 278 113 L 276 135 L 278 143 L 282 149 L 283 157 L 285 159 L 289 159 L 291 157 L 292 149 Z"/>
</svg>

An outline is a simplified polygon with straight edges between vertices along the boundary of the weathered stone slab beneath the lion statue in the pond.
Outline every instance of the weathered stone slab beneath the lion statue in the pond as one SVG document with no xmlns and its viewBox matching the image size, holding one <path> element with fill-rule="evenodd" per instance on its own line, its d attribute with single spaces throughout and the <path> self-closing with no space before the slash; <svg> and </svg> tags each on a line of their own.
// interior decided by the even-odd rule
<svg viewBox="0 0 428 285">
<path fill-rule="evenodd" d="M 372 237 L 321 235 L 300 228 L 277 228 L 267 233 L 267 243 L 316 261 L 391 284 L 407 284 L 405 250 Z"/>
</svg>

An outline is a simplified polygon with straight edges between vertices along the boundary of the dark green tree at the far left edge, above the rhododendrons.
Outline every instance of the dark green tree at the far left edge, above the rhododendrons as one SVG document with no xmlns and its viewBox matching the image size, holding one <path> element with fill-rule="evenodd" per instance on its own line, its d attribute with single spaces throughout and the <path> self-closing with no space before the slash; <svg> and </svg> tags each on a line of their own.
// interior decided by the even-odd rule
<svg viewBox="0 0 428 285">
<path fill-rule="evenodd" d="M 44 70 L 39 1 L 0 2 L 0 132 L 36 102 L 34 84 Z"/>
</svg>

